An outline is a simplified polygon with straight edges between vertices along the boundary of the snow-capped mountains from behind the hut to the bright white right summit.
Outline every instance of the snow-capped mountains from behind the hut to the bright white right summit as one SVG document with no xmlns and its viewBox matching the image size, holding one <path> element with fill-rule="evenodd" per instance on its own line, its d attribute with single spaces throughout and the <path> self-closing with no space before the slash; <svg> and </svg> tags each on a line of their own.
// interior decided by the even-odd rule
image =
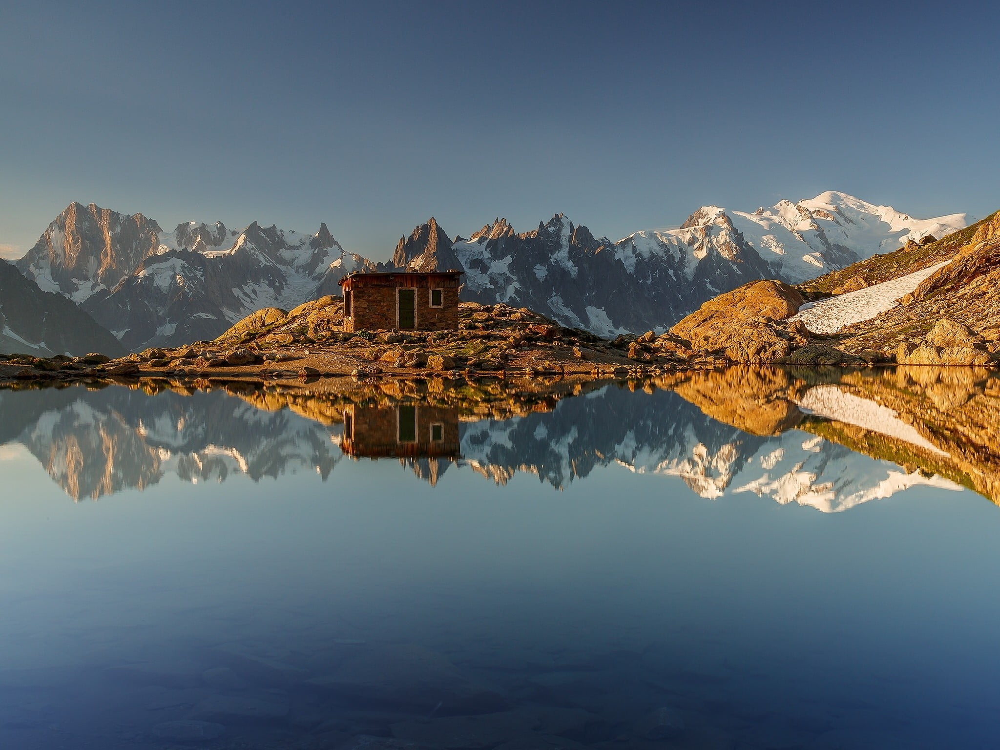
<svg viewBox="0 0 1000 750">
<path fill-rule="evenodd" d="M 967 214 L 914 219 L 887 206 L 827 192 L 780 201 L 753 213 L 703 206 L 677 229 L 595 238 L 562 214 L 518 234 L 497 219 L 450 248 L 428 243 L 429 224 L 397 248 L 413 270 L 465 270 L 462 296 L 506 302 L 604 336 L 665 329 L 708 299 L 761 278 L 805 281 L 907 240 L 942 237 L 973 221 Z M 436 226 L 436 225 L 435 225 Z"/>
</svg>

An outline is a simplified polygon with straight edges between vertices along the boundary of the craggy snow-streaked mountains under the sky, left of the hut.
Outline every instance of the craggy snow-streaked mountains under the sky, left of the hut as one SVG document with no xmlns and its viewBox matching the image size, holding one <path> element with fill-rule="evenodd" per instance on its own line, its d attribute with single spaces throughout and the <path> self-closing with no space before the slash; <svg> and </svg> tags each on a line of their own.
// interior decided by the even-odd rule
<svg viewBox="0 0 1000 750">
<path fill-rule="evenodd" d="M 315 234 L 221 222 L 173 232 L 142 214 L 71 204 L 18 268 L 70 297 L 127 349 L 211 339 L 262 307 L 295 307 L 329 293 L 368 261 L 326 224 Z"/>
</svg>

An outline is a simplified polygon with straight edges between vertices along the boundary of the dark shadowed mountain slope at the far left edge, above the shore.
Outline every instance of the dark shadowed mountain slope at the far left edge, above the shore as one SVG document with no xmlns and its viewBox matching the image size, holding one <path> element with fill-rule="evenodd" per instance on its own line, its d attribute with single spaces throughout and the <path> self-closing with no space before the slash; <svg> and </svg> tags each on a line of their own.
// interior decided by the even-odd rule
<svg viewBox="0 0 1000 750">
<path fill-rule="evenodd" d="M 125 350 L 107 330 L 72 301 L 43 292 L 17 269 L 0 260 L 0 354 L 50 356 Z"/>
</svg>

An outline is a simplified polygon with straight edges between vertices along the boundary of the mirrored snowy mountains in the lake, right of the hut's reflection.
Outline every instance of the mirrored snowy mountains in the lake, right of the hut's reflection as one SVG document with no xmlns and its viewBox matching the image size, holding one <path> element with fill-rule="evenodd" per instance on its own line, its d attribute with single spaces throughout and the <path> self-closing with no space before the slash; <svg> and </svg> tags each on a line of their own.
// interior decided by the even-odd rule
<svg viewBox="0 0 1000 750">
<path fill-rule="evenodd" d="M 638 473 L 680 477 L 708 499 L 753 493 L 825 513 L 919 484 L 960 489 L 809 432 L 751 435 L 671 391 L 643 397 L 611 386 L 564 399 L 549 413 L 464 424 L 461 461 L 500 483 L 529 471 L 554 487 L 617 463 Z"/>
</svg>

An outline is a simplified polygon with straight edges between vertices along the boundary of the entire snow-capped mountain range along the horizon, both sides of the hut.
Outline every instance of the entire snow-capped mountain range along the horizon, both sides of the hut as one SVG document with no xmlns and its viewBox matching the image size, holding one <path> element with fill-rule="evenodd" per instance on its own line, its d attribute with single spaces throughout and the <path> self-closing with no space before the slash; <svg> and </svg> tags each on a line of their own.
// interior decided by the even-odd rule
<svg viewBox="0 0 1000 750">
<path fill-rule="evenodd" d="M 386 268 L 464 270 L 463 299 L 529 307 L 614 336 L 665 329 L 748 281 L 804 281 L 971 220 L 913 219 L 835 192 L 752 213 L 704 206 L 676 229 L 617 242 L 562 214 L 522 233 L 497 219 L 454 240 L 431 219 L 381 264 L 346 252 L 325 224 L 315 234 L 256 222 L 242 231 L 187 222 L 165 232 L 142 214 L 73 203 L 17 267 L 132 350 L 215 338 L 262 307 L 339 294 L 347 273 Z"/>
</svg>

